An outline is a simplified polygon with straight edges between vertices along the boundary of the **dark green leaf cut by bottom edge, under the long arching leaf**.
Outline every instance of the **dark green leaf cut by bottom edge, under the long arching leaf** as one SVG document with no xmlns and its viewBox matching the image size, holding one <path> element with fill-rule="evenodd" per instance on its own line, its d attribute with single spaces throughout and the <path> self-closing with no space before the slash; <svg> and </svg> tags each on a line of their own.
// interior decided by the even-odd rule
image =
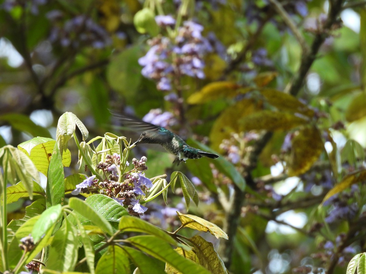
<svg viewBox="0 0 366 274">
<path fill-rule="evenodd" d="M 164 274 L 164 265 L 161 261 L 147 256 L 141 251 L 128 247 L 122 246 L 122 249 L 130 257 L 132 263 L 138 267 L 140 274 Z"/>
</svg>

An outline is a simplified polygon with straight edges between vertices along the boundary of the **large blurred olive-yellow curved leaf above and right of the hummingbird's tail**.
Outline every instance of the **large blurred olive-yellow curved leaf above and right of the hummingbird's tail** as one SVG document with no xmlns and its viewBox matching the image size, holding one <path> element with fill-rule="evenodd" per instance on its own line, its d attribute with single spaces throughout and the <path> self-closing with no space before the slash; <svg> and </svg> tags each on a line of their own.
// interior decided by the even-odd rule
<svg viewBox="0 0 366 274">
<path fill-rule="evenodd" d="M 240 100 L 225 109 L 212 126 L 210 132 L 212 148 L 219 150 L 219 145 L 224 139 L 229 139 L 232 132 L 239 132 L 238 119 L 240 117 L 244 117 L 260 109 L 260 105 L 252 99 Z"/>
</svg>

